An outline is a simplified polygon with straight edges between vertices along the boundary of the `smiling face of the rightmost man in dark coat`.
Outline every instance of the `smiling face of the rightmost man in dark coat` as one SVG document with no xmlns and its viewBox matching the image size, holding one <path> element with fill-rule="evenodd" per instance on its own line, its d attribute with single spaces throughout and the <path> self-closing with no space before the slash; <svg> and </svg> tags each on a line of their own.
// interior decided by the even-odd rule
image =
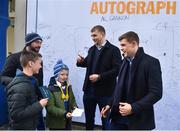
<svg viewBox="0 0 180 131">
<path fill-rule="evenodd" d="M 133 42 L 128 42 L 126 39 L 122 39 L 120 41 L 120 49 L 123 53 L 123 56 L 124 57 L 134 57 L 135 54 L 136 54 L 136 50 L 135 50 L 135 47 L 136 47 L 136 42 L 133 41 Z"/>
</svg>

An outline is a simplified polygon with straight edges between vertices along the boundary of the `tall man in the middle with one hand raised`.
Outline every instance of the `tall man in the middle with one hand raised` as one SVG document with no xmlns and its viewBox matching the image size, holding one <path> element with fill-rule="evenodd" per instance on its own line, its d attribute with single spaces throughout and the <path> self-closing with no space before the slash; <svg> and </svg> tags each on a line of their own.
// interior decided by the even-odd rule
<svg viewBox="0 0 180 131">
<path fill-rule="evenodd" d="M 83 103 L 85 108 L 86 129 L 94 129 L 96 105 L 101 110 L 109 101 L 116 83 L 121 64 L 120 50 L 105 38 L 103 26 L 91 29 L 94 45 L 89 49 L 86 58 L 79 55 L 77 66 L 86 67 L 83 86 Z M 109 128 L 107 118 L 102 118 L 103 129 Z"/>
</svg>

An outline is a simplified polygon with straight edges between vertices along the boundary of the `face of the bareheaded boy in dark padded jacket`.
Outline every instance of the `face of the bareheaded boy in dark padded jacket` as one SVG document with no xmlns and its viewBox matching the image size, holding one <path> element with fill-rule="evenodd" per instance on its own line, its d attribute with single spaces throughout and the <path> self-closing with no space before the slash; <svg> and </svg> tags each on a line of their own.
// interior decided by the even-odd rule
<svg viewBox="0 0 180 131">
<path fill-rule="evenodd" d="M 42 65 L 41 65 L 42 58 L 39 57 L 36 61 L 30 61 L 30 62 L 31 62 L 33 74 L 38 74 L 39 69 L 42 68 Z"/>
</svg>

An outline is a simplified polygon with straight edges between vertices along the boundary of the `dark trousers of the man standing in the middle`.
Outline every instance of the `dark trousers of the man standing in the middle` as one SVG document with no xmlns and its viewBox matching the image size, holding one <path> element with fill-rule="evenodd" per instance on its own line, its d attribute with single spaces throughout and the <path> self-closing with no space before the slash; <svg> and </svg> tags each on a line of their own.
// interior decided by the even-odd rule
<svg viewBox="0 0 180 131">
<path fill-rule="evenodd" d="M 84 103 L 84 109 L 85 109 L 85 117 L 86 117 L 86 129 L 87 130 L 93 130 L 94 129 L 94 118 L 95 118 L 95 112 L 96 112 L 96 105 L 98 104 L 99 110 L 107 105 L 109 102 L 110 97 L 104 97 L 104 96 L 94 96 L 92 94 L 86 94 L 83 95 L 83 103 Z M 109 115 L 106 118 L 101 118 L 102 120 L 102 128 L 103 130 L 109 129 Z"/>
</svg>

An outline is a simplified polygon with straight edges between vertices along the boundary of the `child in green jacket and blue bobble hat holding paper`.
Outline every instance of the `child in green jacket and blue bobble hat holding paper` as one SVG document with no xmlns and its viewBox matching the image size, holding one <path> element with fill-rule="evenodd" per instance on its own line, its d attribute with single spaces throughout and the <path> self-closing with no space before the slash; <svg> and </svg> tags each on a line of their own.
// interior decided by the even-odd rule
<svg viewBox="0 0 180 131">
<path fill-rule="evenodd" d="M 51 77 L 49 89 L 51 99 L 47 104 L 46 124 L 50 130 L 70 130 L 71 111 L 77 107 L 71 85 L 68 83 L 69 69 L 62 62 L 57 61 L 54 76 Z"/>
</svg>

